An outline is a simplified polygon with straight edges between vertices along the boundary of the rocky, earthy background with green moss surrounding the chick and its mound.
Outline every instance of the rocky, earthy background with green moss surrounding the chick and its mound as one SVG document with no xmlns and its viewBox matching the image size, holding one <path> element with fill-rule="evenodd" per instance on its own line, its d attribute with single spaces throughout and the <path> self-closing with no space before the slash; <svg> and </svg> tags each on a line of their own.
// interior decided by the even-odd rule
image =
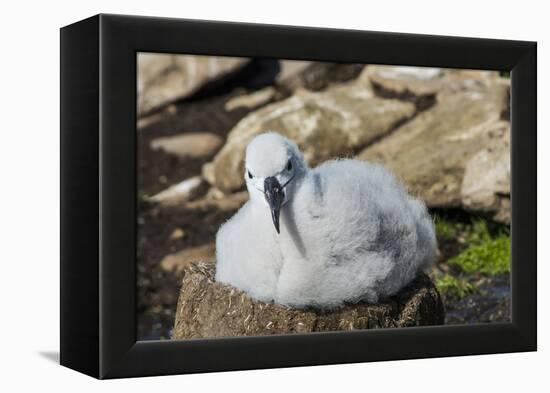
<svg viewBox="0 0 550 393">
<path fill-rule="evenodd" d="M 172 336 L 183 272 L 214 262 L 219 225 L 248 197 L 245 146 L 265 130 L 311 166 L 391 168 L 434 216 L 445 323 L 510 319 L 506 75 L 140 54 L 137 88 L 138 339 Z"/>
</svg>

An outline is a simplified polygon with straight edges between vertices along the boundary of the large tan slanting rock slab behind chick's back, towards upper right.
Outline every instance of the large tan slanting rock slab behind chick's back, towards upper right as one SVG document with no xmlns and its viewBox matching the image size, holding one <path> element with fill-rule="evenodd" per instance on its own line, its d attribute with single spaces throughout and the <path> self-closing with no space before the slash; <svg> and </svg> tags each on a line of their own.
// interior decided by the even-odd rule
<svg viewBox="0 0 550 393">
<path fill-rule="evenodd" d="M 508 86 L 492 83 L 438 96 L 431 109 L 364 149 L 358 158 L 389 167 L 430 207 L 460 207 L 468 161 L 495 143 Z"/>
</svg>

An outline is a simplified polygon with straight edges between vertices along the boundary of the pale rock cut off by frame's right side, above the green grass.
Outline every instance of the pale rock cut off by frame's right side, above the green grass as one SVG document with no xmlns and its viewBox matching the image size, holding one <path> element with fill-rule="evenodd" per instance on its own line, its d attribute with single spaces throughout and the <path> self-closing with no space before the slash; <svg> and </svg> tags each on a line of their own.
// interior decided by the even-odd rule
<svg viewBox="0 0 550 393">
<path fill-rule="evenodd" d="M 468 210 L 510 223 L 510 130 L 507 123 L 493 132 L 494 142 L 467 163 L 460 190 Z"/>
</svg>

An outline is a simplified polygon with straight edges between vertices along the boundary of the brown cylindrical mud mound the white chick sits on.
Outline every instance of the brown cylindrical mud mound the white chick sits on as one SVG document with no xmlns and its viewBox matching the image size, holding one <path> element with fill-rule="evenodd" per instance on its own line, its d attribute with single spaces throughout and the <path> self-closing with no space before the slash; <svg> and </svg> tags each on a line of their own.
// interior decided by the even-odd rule
<svg viewBox="0 0 550 393">
<path fill-rule="evenodd" d="M 444 321 L 440 295 L 426 275 L 382 303 L 301 310 L 258 302 L 215 282 L 213 264 L 192 264 L 183 274 L 173 339 L 441 325 Z"/>
</svg>

